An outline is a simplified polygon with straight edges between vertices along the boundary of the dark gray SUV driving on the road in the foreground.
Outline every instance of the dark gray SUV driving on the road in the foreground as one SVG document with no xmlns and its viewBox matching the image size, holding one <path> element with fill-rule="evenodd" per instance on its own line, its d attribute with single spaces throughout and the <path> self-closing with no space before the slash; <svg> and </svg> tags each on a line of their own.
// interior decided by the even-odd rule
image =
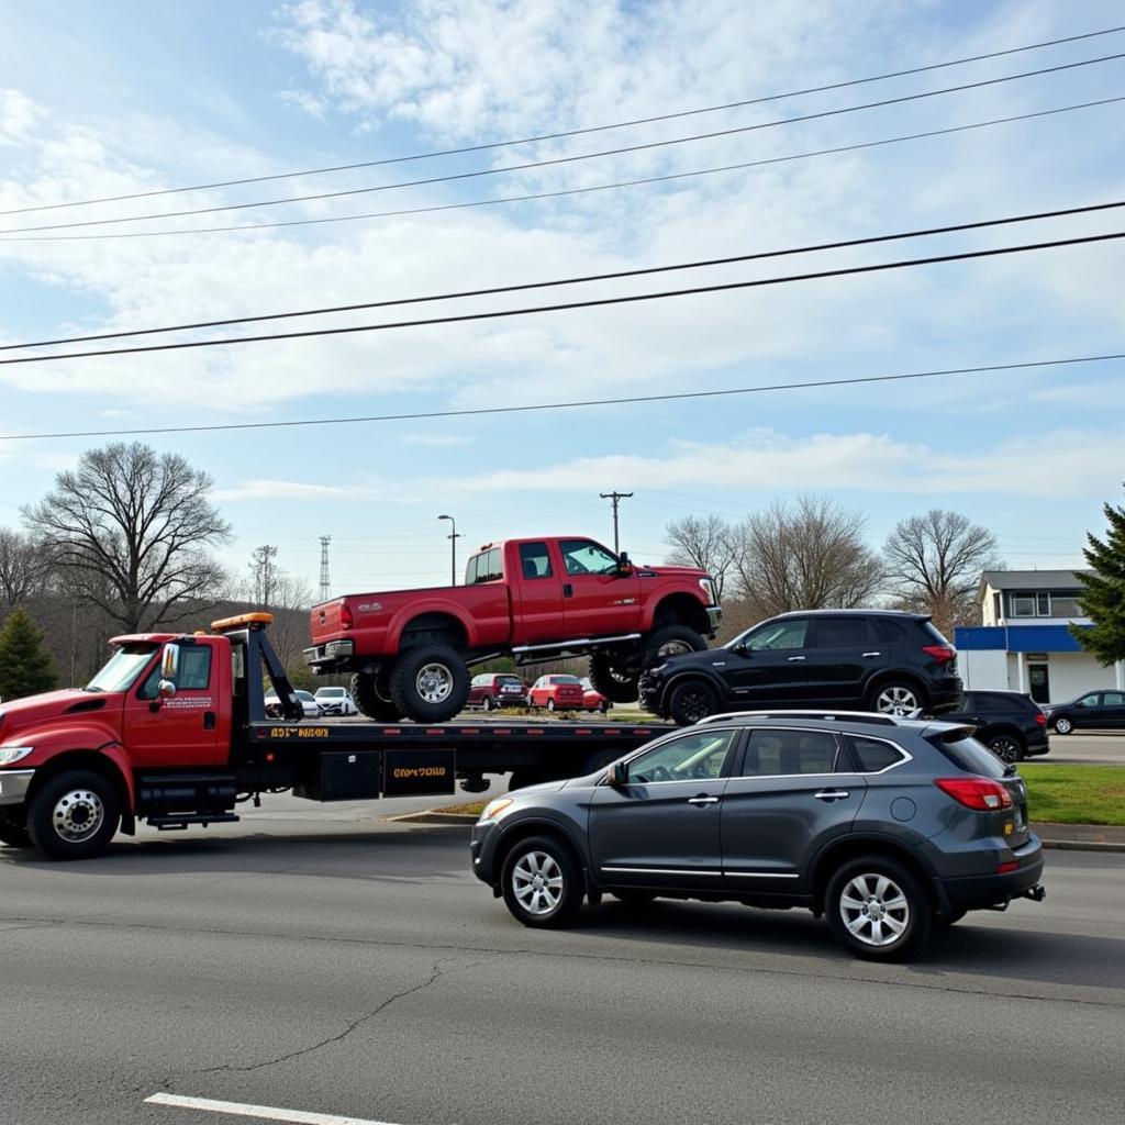
<svg viewBox="0 0 1125 1125">
<path fill-rule="evenodd" d="M 816 711 L 716 716 L 586 777 L 498 798 L 472 870 L 525 926 L 603 893 L 807 907 L 897 960 L 969 910 L 1043 898 L 1014 766 L 972 727 Z"/>
</svg>

